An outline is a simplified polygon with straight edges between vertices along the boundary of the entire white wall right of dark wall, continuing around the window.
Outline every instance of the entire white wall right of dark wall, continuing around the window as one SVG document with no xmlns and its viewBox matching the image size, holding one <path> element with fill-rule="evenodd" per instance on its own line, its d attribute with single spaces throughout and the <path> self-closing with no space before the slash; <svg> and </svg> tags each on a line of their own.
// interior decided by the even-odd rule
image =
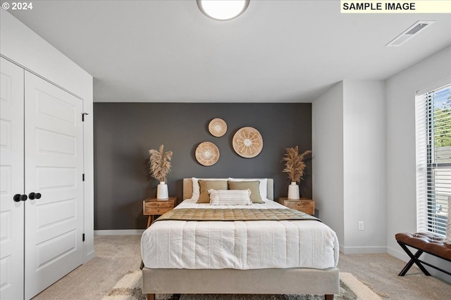
<svg viewBox="0 0 451 300">
<path fill-rule="evenodd" d="M 451 46 L 386 81 L 342 81 L 312 103 L 313 196 L 345 254 L 409 260 L 395 234 L 416 232 L 414 97 L 447 77 Z M 447 261 L 425 260 L 451 271 Z"/>
</svg>

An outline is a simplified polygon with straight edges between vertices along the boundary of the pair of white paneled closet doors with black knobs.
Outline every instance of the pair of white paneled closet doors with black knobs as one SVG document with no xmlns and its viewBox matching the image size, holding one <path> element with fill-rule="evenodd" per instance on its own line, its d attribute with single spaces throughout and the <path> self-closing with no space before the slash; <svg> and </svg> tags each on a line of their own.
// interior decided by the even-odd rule
<svg viewBox="0 0 451 300">
<path fill-rule="evenodd" d="M 0 66 L 0 299 L 31 299 L 82 264 L 82 100 Z"/>
</svg>

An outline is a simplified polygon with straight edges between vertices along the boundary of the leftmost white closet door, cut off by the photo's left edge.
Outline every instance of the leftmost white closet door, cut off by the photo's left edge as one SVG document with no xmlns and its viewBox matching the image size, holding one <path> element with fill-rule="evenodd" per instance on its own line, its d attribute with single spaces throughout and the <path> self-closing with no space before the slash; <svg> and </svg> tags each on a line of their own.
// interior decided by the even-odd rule
<svg viewBox="0 0 451 300">
<path fill-rule="evenodd" d="M 0 299 L 23 299 L 23 69 L 0 58 Z M 17 197 L 16 197 L 16 200 Z"/>
</svg>

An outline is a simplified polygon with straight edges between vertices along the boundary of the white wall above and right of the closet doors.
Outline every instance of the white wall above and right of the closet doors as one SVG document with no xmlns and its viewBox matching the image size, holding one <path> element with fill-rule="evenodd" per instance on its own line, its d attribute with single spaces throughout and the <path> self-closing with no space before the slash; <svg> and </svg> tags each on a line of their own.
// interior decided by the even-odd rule
<svg viewBox="0 0 451 300">
<path fill-rule="evenodd" d="M 83 99 L 83 110 L 89 113 L 84 123 L 85 150 L 85 256 L 94 253 L 94 140 L 92 122 L 92 76 L 63 53 L 4 9 L 0 10 L 0 54 L 31 72 L 61 86 Z"/>
</svg>

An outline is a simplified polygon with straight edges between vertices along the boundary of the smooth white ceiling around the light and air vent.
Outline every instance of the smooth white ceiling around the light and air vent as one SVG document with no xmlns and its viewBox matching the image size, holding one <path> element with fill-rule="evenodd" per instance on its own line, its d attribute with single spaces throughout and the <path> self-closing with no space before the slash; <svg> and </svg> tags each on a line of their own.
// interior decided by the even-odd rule
<svg viewBox="0 0 451 300">
<path fill-rule="evenodd" d="M 451 45 L 451 14 L 342 14 L 340 1 L 251 0 L 228 21 L 196 0 L 32 1 L 11 11 L 94 77 L 94 102 L 311 102 Z M 385 47 L 417 20 L 435 20 Z"/>
</svg>

